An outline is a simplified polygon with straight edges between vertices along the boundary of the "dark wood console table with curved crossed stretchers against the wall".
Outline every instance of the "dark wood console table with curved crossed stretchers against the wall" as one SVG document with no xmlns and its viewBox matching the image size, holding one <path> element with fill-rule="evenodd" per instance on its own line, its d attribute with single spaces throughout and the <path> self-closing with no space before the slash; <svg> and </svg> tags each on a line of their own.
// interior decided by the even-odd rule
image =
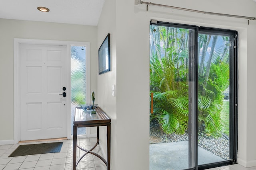
<svg viewBox="0 0 256 170">
<path fill-rule="evenodd" d="M 77 128 L 78 127 L 97 127 L 97 142 L 90 150 L 83 149 L 77 145 Z M 107 126 L 107 161 L 102 158 L 99 154 L 92 152 L 94 148 L 99 144 L 99 127 Z M 73 124 L 73 170 L 76 170 L 76 166 L 80 160 L 90 153 L 95 156 L 98 156 L 107 166 L 107 170 L 110 170 L 110 128 L 111 128 L 111 119 L 108 115 L 100 108 L 96 107 L 96 114 L 90 114 L 89 111 L 85 111 L 82 107 L 77 107 L 75 109 L 74 124 Z M 79 148 L 85 151 L 85 154 L 82 155 L 78 160 L 76 160 L 76 148 Z"/>
</svg>

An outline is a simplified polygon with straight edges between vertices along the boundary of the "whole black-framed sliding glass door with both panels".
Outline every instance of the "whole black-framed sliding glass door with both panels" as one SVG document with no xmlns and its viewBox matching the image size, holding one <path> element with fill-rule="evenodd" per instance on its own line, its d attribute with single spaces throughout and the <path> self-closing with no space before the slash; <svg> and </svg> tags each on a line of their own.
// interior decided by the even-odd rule
<svg viewBox="0 0 256 170">
<path fill-rule="evenodd" d="M 236 160 L 236 31 L 150 25 L 150 170 Z"/>
</svg>

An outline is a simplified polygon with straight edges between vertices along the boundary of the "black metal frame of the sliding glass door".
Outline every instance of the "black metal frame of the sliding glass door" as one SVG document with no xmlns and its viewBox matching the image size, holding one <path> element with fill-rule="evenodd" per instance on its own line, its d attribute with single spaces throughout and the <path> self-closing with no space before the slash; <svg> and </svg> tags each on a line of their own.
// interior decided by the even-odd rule
<svg viewBox="0 0 256 170">
<path fill-rule="evenodd" d="M 222 29 L 222 28 L 216 28 L 216 27 L 204 27 L 204 26 L 197 26 L 197 25 L 188 25 L 188 24 L 181 24 L 181 23 L 168 23 L 163 21 L 158 21 L 157 23 L 152 23 L 150 21 L 150 25 L 159 25 L 159 26 L 166 26 L 166 27 L 179 27 L 179 28 L 187 28 L 187 29 L 194 29 L 195 32 L 195 57 L 198 57 L 198 34 L 200 33 L 210 33 L 212 35 L 229 35 L 232 34 L 234 37 L 231 38 L 233 41 L 233 45 L 236 45 L 238 47 L 238 31 L 234 30 L 237 28 L 231 29 Z M 228 33 L 229 32 L 229 33 Z M 233 33 L 231 33 L 233 32 Z M 195 166 L 191 169 L 208 169 L 208 168 L 214 168 L 218 166 L 224 166 L 224 165 L 230 165 L 230 164 L 236 164 L 237 163 L 237 152 L 238 152 L 238 48 L 234 47 L 232 49 L 232 57 L 231 53 L 229 58 L 232 58 L 232 61 L 230 61 L 230 157 L 232 159 L 224 160 L 221 162 L 212 162 L 209 164 L 200 164 L 198 165 L 198 102 L 194 103 L 193 106 L 196 108 L 195 115 L 192 118 L 194 121 L 194 125 L 196 128 L 194 128 L 193 133 L 195 134 L 195 142 L 192 145 L 192 148 L 194 149 L 194 153 L 191 153 L 190 155 L 194 156 L 194 163 Z M 192 76 L 196 77 L 196 80 L 194 80 L 194 92 L 196 93 L 194 96 L 194 101 L 198 101 L 198 62 L 195 63 L 195 68 L 193 69 L 194 74 Z M 232 78 L 231 78 L 232 77 Z"/>
</svg>

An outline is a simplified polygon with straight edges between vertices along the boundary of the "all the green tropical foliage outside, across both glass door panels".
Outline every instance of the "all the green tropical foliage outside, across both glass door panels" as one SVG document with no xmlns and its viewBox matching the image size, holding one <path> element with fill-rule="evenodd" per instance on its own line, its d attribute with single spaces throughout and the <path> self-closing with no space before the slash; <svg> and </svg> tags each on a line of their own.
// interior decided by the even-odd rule
<svg viewBox="0 0 256 170">
<path fill-rule="evenodd" d="M 191 30 L 150 26 L 150 93 L 153 114 L 165 133 L 188 129 L 188 54 Z M 228 37 L 200 34 L 198 38 L 198 128 L 218 137 L 223 92 L 229 86 Z M 217 43 L 218 42 L 218 43 Z"/>
</svg>

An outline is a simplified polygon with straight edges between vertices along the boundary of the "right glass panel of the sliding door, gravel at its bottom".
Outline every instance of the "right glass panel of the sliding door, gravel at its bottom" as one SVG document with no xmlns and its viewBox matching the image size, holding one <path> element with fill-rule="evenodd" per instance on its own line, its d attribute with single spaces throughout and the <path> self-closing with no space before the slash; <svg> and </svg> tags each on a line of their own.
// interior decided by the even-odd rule
<svg viewBox="0 0 256 170">
<path fill-rule="evenodd" d="M 230 35 L 198 34 L 198 164 L 230 158 Z"/>
</svg>

